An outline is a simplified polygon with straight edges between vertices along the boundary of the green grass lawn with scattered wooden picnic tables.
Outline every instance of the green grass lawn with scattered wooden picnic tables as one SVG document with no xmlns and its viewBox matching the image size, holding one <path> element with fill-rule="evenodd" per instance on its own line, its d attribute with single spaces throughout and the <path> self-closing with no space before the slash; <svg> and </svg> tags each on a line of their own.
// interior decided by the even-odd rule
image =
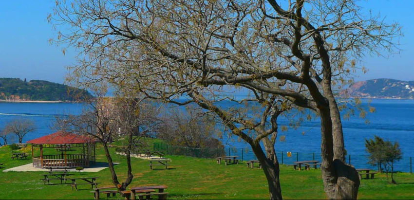
<svg viewBox="0 0 414 200">
<path fill-rule="evenodd" d="M 30 146 L 19 151 L 30 152 Z M 56 154 L 54 149 L 49 151 Z M 106 161 L 102 148 L 96 148 L 96 156 L 97 162 Z M 0 148 L 0 163 L 5 169 L 31 163 L 31 154 L 28 160 L 12 161 L 10 157 L 8 147 Z M 126 161 L 114 153 L 113 157 L 120 163 L 115 170 L 122 181 L 126 177 Z M 215 160 L 167 157 L 172 159 L 174 169 L 151 171 L 149 161 L 133 158 L 131 186 L 168 185 L 169 199 L 268 199 L 261 169 L 249 169 L 245 164 L 218 165 Z M 281 170 L 284 199 L 326 199 L 320 170 L 295 171 L 289 166 L 282 166 Z M 68 185 L 44 185 L 41 174 L 45 172 L 0 172 L 0 199 L 93 199 L 88 185 L 80 185 L 78 191 L 72 191 Z M 112 186 L 109 169 L 74 174 L 71 178 L 100 177 L 98 187 Z M 414 175 L 398 173 L 395 180 L 397 185 L 388 184 L 385 174 L 376 175 L 375 180 L 362 180 L 359 199 L 414 199 Z M 122 198 L 117 195 L 115 199 Z"/>
</svg>

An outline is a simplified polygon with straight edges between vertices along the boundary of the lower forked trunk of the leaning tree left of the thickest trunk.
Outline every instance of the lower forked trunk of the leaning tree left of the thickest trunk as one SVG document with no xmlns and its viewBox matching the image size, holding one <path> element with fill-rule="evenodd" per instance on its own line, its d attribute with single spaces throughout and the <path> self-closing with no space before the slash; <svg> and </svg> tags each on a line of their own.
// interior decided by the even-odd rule
<svg viewBox="0 0 414 200">
<path fill-rule="evenodd" d="M 265 143 L 267 157 L 263 152 L 262 146 L 259 144 L 252 145 L 253 152 L 257 160 L 259 160 L 269 184 L 269 195 L 271 200 L 282 200 L 282 189 L 280 184 L 280 169 L 279 162 L 276 157 L 274 146 Z"/>
</svg>

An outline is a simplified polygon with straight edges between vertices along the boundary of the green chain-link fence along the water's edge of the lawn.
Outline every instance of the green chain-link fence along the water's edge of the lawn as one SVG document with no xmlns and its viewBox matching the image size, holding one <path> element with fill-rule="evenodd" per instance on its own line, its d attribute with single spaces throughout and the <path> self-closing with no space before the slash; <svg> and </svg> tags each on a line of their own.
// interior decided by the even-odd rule
<svg viewBox="0 0 414 200">
<path fill-rule="evenodd" d="M 218 156 L 239 156 L 242 161 L 256 160 L 256 156 L 249 148 L 189 148 L 181 146 L 171 146 L 163 143 L 154 143 L 156 151 L 164 151 L 166 155 L 188 156 L 196 158 L 216 158 Z M 281 164 L 293 164 L 297 161 L 321 161 L 320 153 L 303 153 L 294 151 L 276 152 Z M 368 155 L 347 155 L 346 162 L 356 168 L 374 168 L 379 171 L 378 165 L 368 164 Z M 395 171 L 413 173 L 413 158 L 403 157 L 394 165 Z"/>
</svg>

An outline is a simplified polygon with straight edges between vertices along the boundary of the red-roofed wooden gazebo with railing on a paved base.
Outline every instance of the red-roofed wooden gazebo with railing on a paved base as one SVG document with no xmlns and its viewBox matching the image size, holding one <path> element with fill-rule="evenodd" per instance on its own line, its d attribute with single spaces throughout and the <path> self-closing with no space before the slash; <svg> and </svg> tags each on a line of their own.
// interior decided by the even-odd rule
<svg viewBox="0 0 414 200">
<path fill-rule="evenodd" d="M 27 142 L 32 144 L 33 166 L 38 168 L 75 168 L 89 167 L 95 163 L 95 143 L 91 138 L 67 132 L 56 132 Z M 34 147 L 40 148 L 40 156 L 34 156 Z M 45 148 L 53 149 L 47 152 L 60 152 L 54 155 L 44 155 Z M 68 154 L 77 151 L 82 154 Z"/>
</svg>

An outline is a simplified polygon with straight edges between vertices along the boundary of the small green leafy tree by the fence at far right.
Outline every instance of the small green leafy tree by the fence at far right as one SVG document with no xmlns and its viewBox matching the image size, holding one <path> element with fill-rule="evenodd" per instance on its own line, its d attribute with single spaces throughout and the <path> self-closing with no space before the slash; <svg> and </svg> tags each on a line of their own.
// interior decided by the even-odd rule
<svg viewBox="0 0 414 200">
<path fill-rule="evenodd" d="M 402 151 L 398 142 L 394 144 L 391 141 L 384 141 L 384 139 L 375 136 L 375 141 L 366 140 L 365 146 L 367 147 L 369 156 L 369 163 L 376 164 L 379 162 L 380 166 L 385 169 L 387 174 L 387 180 L 389 180 L 388 174 L 391 172 L 391 182 L 396 184 L 394 180 L 394 164 L 402 159 Z"/>
</svg>

